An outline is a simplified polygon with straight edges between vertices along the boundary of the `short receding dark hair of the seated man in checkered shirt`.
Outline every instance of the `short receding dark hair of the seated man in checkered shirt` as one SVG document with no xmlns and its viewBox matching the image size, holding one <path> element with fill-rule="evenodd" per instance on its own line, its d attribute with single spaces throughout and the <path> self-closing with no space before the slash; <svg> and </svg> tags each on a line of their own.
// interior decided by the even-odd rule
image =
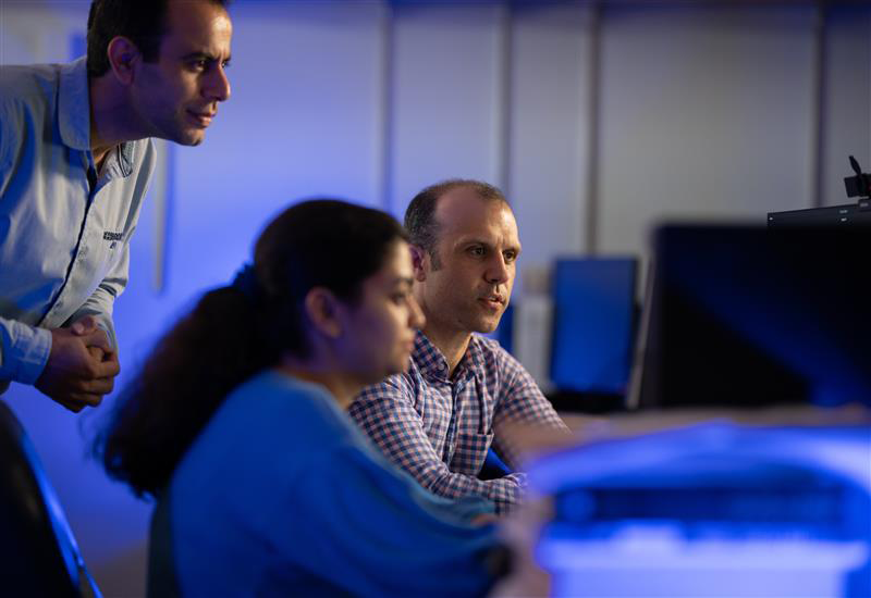
<svg viewBox="0 0 871 598">
<path fill-rule="evenodd" d="M 470 178 L 442 180 L 417 194 L 405 210 L 405 229 L 408 232 L 412 245 L 422 248 L 432 257 L 432 266 L 436 269 L 441 267 L 441 260 L 436 252 L 436 246 L 439 245 L 439 222 L 436 220 L 436 208 L 440 198 L 459 188 L 471 189 L 481 199 L 495 199 L 508 203 L 498 187 Z"/>
</svg>

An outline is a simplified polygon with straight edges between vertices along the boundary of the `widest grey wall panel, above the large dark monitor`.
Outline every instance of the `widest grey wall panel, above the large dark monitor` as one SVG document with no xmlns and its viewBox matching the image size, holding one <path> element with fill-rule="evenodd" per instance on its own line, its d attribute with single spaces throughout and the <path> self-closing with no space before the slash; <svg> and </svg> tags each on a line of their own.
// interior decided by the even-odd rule
<svg viewBox="0 0 871 598">
<path fill-rule="evenodd" d="M 662 217 L 807 208 L 812 7 L 609 8 L 600 238 L 638 252 Z"/>
</svg>

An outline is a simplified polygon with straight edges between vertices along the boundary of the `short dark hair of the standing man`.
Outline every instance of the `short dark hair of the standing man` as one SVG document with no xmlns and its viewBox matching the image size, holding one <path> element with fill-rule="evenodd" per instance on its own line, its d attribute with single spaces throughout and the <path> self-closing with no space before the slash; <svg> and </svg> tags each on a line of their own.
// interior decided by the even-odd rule
<svg viewBox="0 0 871 598">
<path fill-rule="evenodd" d="M 210 0 L 223 8 L 230 0 Z M 136 45 L 145 62 L 160 54 L 160 40 L 167 32 L 169 0 L 93 0 L 88 12 L 88 76 L 100 77 L 109 71 L 107 50 L 115 36 Z"/>
</svg>

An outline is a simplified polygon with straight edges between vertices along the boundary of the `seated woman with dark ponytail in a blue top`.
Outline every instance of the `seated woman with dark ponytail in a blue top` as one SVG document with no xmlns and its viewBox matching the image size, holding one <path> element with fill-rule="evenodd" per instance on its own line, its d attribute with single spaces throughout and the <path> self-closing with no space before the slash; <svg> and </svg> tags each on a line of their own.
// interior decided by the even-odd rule
<svg viewBox="0 0 871 598">
<path fill-rule="evenodd" d="M 207 292 L 125 388 L 97 448 L 157 499 L 149 595 L 480 595 L 502 550 L 487 502 L 401 473 L 344 412 L 407 366 L 422 315 L 389 215 L 285 210 L 254 265 Z"/>
</svg>

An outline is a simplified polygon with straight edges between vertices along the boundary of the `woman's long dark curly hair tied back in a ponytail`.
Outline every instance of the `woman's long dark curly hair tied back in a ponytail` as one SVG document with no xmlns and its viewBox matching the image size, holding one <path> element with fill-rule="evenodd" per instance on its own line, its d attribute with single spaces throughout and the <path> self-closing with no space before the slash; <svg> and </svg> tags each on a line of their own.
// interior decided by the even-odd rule
<svg viewBox="0 0 871 598">
<path fill-rule="evenodd" d="M 94 445 L 109 475 L 156 496 L 233 388 L 285 353 L 309 353 L 308 291 L 324 287 L 355 304 L 405 238 L 388 214 L 340 200 L 282 212 L 258 238 L 245 284 L 206 292 L 122 390 Z"/>
</svg>

